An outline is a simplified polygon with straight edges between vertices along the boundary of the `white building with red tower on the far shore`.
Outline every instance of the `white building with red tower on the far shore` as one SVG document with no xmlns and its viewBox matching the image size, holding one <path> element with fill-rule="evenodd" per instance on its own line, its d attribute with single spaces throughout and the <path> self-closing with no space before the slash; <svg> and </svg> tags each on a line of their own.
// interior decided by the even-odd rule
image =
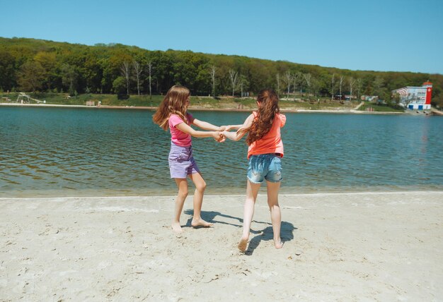
<svg viewBox="0 0 443 302">
<path fill-rule="evenodd" d="M 400 96 L 400 105 L 410 110 L 430 110 L 432 83 L 425 82 L 422 87 L 406 86 L 392 90 L 392 95 Z"/>
</svg>

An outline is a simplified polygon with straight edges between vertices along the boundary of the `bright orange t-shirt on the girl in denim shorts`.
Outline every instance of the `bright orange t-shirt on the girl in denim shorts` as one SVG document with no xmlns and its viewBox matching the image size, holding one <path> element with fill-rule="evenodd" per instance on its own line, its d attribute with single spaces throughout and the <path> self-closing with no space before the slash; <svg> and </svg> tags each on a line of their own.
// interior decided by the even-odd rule
<svg viewBox="0 0 443 302">
<path fill-rule="evenodd" d="M 252 113 L 254 118 L 257 117 L 257 112 Z M 271 130 L 266 133 L 260 140 L 255 140 L 254 143 L 248 147 L 248 158 L 251 155 L 260 155 L 267 153 L 280 153 L 283 157 L 283 142 L 280 135 L 280 128 L 286 123 L 286 116 L 284 114 L 276 114 L 272 122 Z"/>
</svg>

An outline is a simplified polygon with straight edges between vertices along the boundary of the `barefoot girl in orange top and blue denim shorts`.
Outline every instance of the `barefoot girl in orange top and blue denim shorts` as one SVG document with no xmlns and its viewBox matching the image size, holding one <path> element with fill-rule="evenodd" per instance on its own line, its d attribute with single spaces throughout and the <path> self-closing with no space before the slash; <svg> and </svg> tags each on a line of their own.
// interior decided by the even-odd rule
<svg viewBox="0 0 443 302">
<path fill-rule="evenodd" d="M 223 135 L 230 140 L 240 140 L 248 133 L 248 181 L 246 184 L 246 202 L 243 213 L 243 234 L 238 249 L 246 251 L 255 200 L 263 180 L 267 185 L 267 205 L 270 208 L 275 248 L 282 248 L 280 227 L 282 215 L 278 204 L 278 192 L 282 180 L 283 142 L 280 128 L 286 123 L 286 116 L 280 114 L 277 94 L 270 89 L 262 90 L 257 97 L 258 111 L 253 112 L 243 125 L 226 126 Z M 238 129 L 237 132 L 229 132 Z"/>
</svg>

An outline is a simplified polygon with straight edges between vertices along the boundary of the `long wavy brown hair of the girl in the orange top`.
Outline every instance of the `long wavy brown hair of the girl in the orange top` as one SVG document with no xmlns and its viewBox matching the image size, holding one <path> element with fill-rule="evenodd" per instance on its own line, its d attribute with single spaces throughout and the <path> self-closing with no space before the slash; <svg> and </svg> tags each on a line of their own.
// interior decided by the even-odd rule
<svg viewBox="0 0 443 302">
<path fill-rule="evenodd" d="M 275 114 L 280 113 L 278 107 L 278 97 L 272 89 L 263 89 L 258 93 L 257 102 L 258 106 L 257 116 L 253 120 L 251 128 L 241 129 L 239 131 L 248 133 L 246 143 L 251 145 L 255 140 L 260 140 L 271 129 L 272 123 L 275 119 Z"/>
</svg>

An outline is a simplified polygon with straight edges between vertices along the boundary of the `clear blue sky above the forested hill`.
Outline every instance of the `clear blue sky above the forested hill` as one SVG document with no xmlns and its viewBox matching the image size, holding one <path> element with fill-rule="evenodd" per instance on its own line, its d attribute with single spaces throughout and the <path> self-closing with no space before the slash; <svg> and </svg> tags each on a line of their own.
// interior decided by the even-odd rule
<svg viewBox="0 0 443 302">
<path fill-rule="evenodd" d="M 0 0 L 0 37 L 443 74 L 442 0 Z"/>
</svg>

